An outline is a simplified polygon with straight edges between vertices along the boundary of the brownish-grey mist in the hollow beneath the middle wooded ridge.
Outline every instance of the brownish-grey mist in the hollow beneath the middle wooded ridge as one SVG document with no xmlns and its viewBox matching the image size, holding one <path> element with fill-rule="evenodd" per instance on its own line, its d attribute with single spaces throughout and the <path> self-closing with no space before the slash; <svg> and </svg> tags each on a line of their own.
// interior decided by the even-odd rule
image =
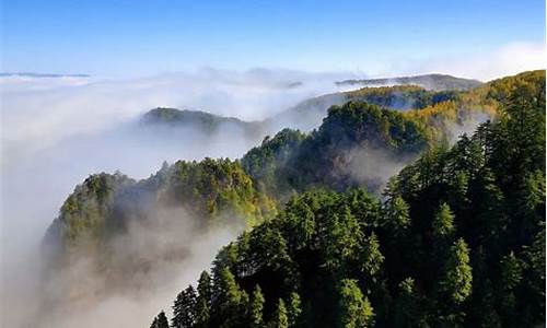
<svg viewBox="0 0 547 328">
<path fill-rule="evenodd" d="M 138 327 L 171 311 L 177 291 L 210 267 L 244 224 L 200 227 L 183 208 L 150 207 L 98 249 L 73 248 L 50 268 L 35 315 L 15 327 Z M 37 298 L 39 300 L 39 298 Z M 21 317 L 19 318 L 21 319 Z M 9 321 L 8 321 L 9 323 Z"/>
</svg>

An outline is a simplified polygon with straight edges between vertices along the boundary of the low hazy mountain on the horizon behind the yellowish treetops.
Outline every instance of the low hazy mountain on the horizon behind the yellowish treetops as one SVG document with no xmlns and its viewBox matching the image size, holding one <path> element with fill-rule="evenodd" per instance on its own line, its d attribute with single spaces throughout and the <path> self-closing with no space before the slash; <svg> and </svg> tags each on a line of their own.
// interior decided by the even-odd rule
<svg viewBox="0 0 547 328">
<path fill-rule="evenodd" d="M 384 79 L 364 79 L 364 80 L 345 80 L 336 82 L 337 85 L 418 85 L 427 90 L 469 90 L 480 86 L 482 82 L 470 79 L 455 78 L 446 74 L 423 74 L 415 77 L 384 78 Z"/>
</svg>

